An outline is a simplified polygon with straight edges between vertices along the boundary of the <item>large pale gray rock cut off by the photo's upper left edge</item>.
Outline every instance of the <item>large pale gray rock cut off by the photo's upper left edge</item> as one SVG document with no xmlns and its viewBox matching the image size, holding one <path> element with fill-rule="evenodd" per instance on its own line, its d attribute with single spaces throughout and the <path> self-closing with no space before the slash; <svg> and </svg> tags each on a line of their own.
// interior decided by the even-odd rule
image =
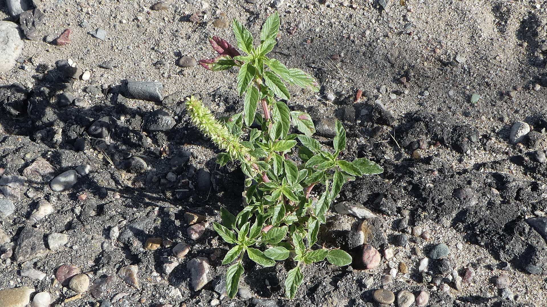
<svg viewBox="0 0 547 307">
<path fill-rule="evenodd" d="M 8 0 L 8 3 L 18 3 L 17 0 Z M 11 11 L 11 10 L 10 10 Z M 19 15 L 22 10 L 17 13 Z M 0 72 L 7 72 L 15 65 L 25 42 L 21 40 L 18 25 L 11 21 L 0 21 Z"/>
</svg>

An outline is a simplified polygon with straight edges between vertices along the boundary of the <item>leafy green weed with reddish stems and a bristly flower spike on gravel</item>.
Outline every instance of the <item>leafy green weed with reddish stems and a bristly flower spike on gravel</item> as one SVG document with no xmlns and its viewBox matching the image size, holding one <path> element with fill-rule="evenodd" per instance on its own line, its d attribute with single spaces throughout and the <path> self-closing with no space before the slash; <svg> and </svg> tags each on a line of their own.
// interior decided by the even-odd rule
<svg viewBox="0 0 547 307">
<path fill-rule="evenodd" d="M 235 262 L 226 271 L 230 298 L 237 293 L 245 253 L 265 267 L 289 258 L 295 262 L 285 281 L 288 298 L 294 298 L 302 284 L 303 263 L 327 259 L 335 265 L 350 264 L 347 252 L 316 244 L 319 226 L 325 223 L 325 212 L 345 182 L 383 172 L 366 158 L 352 162 L 338 159 L 346 148 L 346 131 L 340 121 L 335 124 L 334 148 L 324 149 L 312 138 L 315 126 L 311 116 L 291 111 L 280 100 L 290 99 L 286 83 L 312 91 L 318 91 L 318 84 L 302 70 L 289 69 L 266 56 L 276 44 L 279 25 L 279 16 L 270 15 L 261 29 L 260 44 L 255 46 L 251 33 L 234 19 L 237 47 L 246 55 L 226 40 L 212 37 L 210 43 L 219 56 L 200 60 L 210 70 L 239 68 L 237 92 L 244 97 L 242 113 L 220 122 L 199 99 L 192 96 L 186 101 L 194 124 L 225 151 L 218 154 L 217 163 L 224 166 L 236 160 L 247 175 L 245 208 L 237 215 L 221 208 L 222 225 L 213 223 L 220 237 L 234 245 L 222 262 Z M 257 111 L 259 107 L 262 112 Z M 259 128 L 251 128 L 253 124 Z M 300 133 L 289 134 L 291 126 Z"/>
</svg>

